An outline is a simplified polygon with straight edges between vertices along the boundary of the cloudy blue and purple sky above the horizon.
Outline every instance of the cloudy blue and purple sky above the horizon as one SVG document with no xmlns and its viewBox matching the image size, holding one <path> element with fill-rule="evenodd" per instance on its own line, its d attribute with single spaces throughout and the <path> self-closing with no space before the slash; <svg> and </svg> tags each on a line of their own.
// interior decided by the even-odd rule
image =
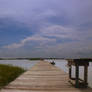
<svg viewBox="0 0 92 92">
<path fill-rule="evenodd" d="M 0 57 L 92 58 L 92 0 L 0 0 Z"/>
</svg>

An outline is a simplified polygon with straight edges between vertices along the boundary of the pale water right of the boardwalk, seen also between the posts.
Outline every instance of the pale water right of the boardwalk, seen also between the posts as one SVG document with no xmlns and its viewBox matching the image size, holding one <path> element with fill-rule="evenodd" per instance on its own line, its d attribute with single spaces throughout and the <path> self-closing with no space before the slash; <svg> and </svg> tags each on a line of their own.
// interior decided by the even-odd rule
<svg viewBox="0 0 92 92">
<path fill-rule="evenodd" d="M 55 61 L 56 66 L 59 68 L 63 69 L 66 73 L 68 73 L 68 67 L 67 67 L 67 61 L 66 60 L 47 60 L 49 62 Z M 72 76 L 75 76 L 75 67 L 72 67 Z M 80 67 L 80 78 L 83 79 L 84 76 L 84 68 Z M 88 68 L 88 83 L 89 86 L 92 87 L 92 63 L 90 63 L 89 68 Z"/>
</svg>

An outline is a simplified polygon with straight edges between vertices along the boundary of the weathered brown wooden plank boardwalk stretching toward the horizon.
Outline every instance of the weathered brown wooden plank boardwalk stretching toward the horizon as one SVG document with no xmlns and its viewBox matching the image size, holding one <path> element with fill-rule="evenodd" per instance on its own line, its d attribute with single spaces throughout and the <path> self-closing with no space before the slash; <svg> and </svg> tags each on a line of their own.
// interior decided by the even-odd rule
<svg viewBox="0 0 92 92">
<path fill-rule="evenodd" d="M 91 88 L 74 88 L 68 80 L 67 73 L 40 61 L 0 92 L 92 92 Z"/>
</svg>

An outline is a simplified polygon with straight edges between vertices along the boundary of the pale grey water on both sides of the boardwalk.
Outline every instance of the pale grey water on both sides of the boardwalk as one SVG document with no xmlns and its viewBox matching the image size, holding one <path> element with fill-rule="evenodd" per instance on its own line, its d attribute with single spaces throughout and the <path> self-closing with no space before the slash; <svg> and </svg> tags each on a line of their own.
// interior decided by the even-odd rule
<svg viewBox="0 0 92 92">
<path fill-rule="evenodd" d="M 37 61 L 29 61 L 29 60 L 0 60 L 0 64 L 11 64 L 13 66 L 19 66 L 22 67 L 24 69 L 30 69 L 33 65 L 35 65 Z M 53 60 L 46 60 L 46 61 L 53 61 Z M 62 70 L 64 70 L 66 73 L 68 73 L 68 67 L 67 65 L 67 61 L 66 60 L 54 60 L 56 63 L 56 66 L 61 68 Z M 92 63 L 90 63 L 90 66 L 88 68 L 88 83 L 89 86 L 92 87 Z M 75 76 L 75 67 L 72 67 L 72 76 Z M 83 79 L 83 67 L 80 67 L 80 78 Z"/>
</svg>

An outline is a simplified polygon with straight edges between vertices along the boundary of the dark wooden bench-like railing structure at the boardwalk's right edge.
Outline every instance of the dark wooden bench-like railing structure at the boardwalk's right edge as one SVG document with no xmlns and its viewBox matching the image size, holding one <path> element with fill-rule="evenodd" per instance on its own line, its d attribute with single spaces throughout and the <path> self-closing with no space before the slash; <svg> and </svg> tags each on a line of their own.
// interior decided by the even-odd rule
<svg viewBox="0 0 92 92">
<path fill-rule="evenodd" d="M 69 66 L 69 82 L 76 88 L 88 87 L 88 66 L 92 59 L 67 59 Z M 72 66 L 75 66 L 75 78 L 72 77 Z M 84 80 L 79 78 L 79 67 L 84 67 Z"/>
</svg>

